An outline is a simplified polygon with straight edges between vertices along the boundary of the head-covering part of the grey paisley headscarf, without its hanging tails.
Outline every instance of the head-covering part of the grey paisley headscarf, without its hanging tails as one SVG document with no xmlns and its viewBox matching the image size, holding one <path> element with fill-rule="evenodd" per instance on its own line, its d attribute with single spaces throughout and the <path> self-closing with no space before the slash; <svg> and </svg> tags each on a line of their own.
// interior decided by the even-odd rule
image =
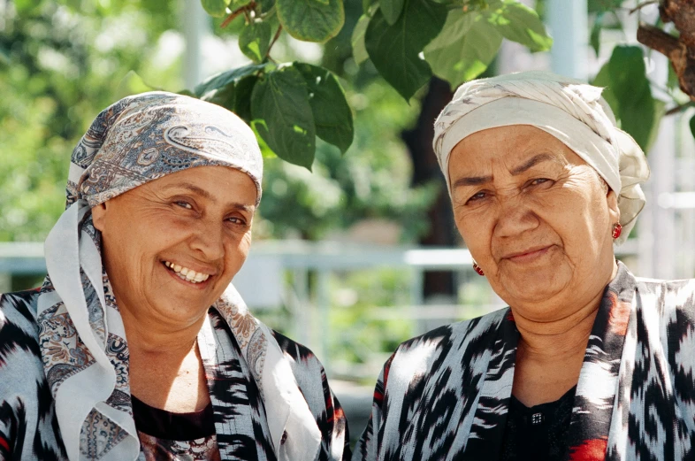
<svg viewBox="0 0 695 461">
<path fill-rule="evenodd" d="M 263 157 L 239 117 L 188 96 L 129 96 L 102 111 L 73 151 L 66 208 L 76 200 L 93 207 L 165 174 L 205 165 L 247 173 L 260 202 Z"/>
</svg>

